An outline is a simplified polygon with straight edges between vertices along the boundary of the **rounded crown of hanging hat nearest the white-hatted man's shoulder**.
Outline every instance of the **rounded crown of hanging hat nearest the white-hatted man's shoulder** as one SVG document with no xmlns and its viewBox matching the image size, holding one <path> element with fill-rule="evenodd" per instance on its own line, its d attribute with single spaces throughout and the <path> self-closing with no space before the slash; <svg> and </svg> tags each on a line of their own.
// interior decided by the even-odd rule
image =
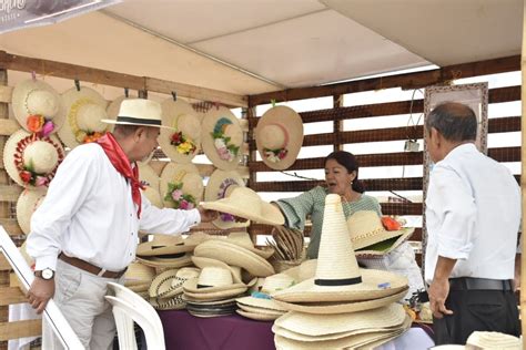
<svg viewBox="0 0 526 350">
<path fill-rule="evenodd" d="M 50 173 L 58 163 L 59 153 L 49 142 L 37 140 L 23 150 L 23 164 L 32 167 L 37 174 Z"/>
</svg>

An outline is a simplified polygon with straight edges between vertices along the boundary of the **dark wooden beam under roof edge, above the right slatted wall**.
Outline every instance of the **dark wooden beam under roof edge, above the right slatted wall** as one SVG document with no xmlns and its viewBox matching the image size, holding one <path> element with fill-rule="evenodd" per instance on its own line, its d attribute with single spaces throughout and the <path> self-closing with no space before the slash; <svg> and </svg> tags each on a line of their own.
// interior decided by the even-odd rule
<svg viewBox="0 0 526 350">
<path fill-rule="evenodd" d="M 513 72 L 518 70 L 520 70 L 520 56 L 515 55 L 481 62 L 455 64 L 424 72 L 363 79 L 323 86 L 297 87 L 277 92 L 267 92 L 250 95 L 249 105 L 256 106 L 259 104 L 270 103 L 271 100 L 275 100 L 276 102 L 294 101 L 391 87 L 417 89 L 443 83 L 453 79 Z"/>
</svg>

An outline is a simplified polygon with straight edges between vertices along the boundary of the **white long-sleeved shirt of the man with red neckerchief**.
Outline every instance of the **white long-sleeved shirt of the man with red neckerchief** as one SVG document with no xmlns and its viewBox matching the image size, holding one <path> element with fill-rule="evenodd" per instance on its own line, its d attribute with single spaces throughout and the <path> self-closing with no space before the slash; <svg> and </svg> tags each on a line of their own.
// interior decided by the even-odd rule
<svg viewBox="0 0 526 350">
<path fill-rule="evenodd" d="M 131 186 L 102 147 L 87 144 L 72 150 L 31 218 L 27 251 L 36 259 L 36 269 L 54 270 L 63 251 L 120 271 L 135 258 L 139 229 L 173 235 L 201 222 L 198 209 L 159 209 L 141 197 L 138 219 Z"/>
</svg>

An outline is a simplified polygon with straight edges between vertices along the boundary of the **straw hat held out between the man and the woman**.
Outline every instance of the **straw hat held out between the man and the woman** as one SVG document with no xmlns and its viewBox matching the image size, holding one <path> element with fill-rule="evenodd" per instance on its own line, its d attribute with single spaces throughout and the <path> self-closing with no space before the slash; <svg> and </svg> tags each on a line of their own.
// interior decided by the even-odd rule
<svg viewBox="0 0 526 350">
<path fill-rule="evenodd" d="M 231 214 L 261 224 L 285 224 L 281 210 L 272 204 L 263 202 L 257 193 L 249 187 L 234 187 L 226 198 L 204 202 L 201 205 L 205 209 Z"/>
</svg>

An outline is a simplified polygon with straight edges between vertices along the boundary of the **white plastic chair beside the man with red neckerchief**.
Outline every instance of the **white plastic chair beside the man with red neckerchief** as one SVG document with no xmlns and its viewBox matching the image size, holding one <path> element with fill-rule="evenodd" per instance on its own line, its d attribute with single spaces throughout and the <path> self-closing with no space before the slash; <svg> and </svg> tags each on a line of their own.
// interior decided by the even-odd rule
<svg viewBox="0 0 526 350">
<path fill-rule="evenodd" d="M 159 327 L 155 325 L 156 322 L 152 321 L 152 313 L 150 312 L 150 310 L 140 309 L 136 306 L 118 297 L 107 296 L 105 299 L 113 307 L 113 316 L 115 318 L 118 332 L 120 330 L 124 330 L 124 333 L 120 333 L 120 332 L 118 333 L 119 347 L 121 346 L 123 347 L 121 349 L 133 349 L 133 348 L 130 348 L 130 347 L 133 347 L 133 344 L 135 346 L 134 349 L 136 349 L 135 333 L 134 332 L 130 333 L 128 331 L 127 318 L 130 318 L 133 321 L 135 321 L 139 325 L 139 327 L 141 327 L 142 330 L 144 331 L 148 349 L 165 350 L 164 332 L 162 330 L 162 326 L 161 326 L 161 329 L 159 329 Z M 152 310 L 153 312 L 155 312 L 153 308 Z M 156 316 L 159 322 L 161 322 L 156 312 L 154 315 Z M 162 336 L 159 337 L 159 333 L 161 333 Z M 122 341 L 121 341 L 121 338 L 122 338 Z M 133 338 L 133 340 L 131 338 Z"/>
</svg>

